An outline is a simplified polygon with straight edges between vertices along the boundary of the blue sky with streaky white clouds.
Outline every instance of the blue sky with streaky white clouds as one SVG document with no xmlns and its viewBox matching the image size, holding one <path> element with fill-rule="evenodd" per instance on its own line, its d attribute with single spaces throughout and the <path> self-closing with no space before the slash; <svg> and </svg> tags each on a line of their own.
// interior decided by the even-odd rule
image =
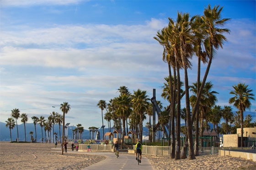
<svg viewBox="0 0 256 170">
<path fill-rule="evenodd" d="M 223 27 L 230 34 L 207 78 L 219 93 L 216 104 L 224 107 L 239 82 L 256 94 L 255 0 L 1 0 L 0 122 L 19 108 L 32 123 L 32 116 L 61 113 L 60 103 L 68 102 L 65 122 L 101 127 L 96 104 L 117 97 L 120 86 L 131 93 L 146 90 L 149 98 L 155 88 L 157 100 L 167 106 L 161 86 L 168 65 L 153 37 L 177 11 L 203 15 L 208 4 L 223 6 L 222 17 L 231 18 Z M 197 81 L 197 57 L 191 62 L 189 84 Z M 206 65 L 201 66 L 202 80 Z M 255 120 L 256 102 L 251 104 L 246 111 Z"/>
</svg>

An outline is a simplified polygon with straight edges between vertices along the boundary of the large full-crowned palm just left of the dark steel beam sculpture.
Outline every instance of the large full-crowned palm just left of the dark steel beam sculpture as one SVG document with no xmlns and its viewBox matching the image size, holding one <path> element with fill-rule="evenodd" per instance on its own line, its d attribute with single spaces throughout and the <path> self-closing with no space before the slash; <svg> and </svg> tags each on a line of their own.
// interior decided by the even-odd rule
<svg viewBox="0 0 256 170">
<path fill-rule="evenodd" d="M 142 140 L 142 132 L 143 132 L 143 117 L 147 110 L 147 105 L 149 104 L 148 95 L 146 95 L 146 91 L 142 91 L 138 89 L 137 91 L 133 91 L 132 95 L 132 103 L 133 103 L 133 110 L 135 113 L 139 114 L 140 122 L 139 122 L 139 130 L 140 130 L 140 137 L 139 139 Z"/>
</svg>

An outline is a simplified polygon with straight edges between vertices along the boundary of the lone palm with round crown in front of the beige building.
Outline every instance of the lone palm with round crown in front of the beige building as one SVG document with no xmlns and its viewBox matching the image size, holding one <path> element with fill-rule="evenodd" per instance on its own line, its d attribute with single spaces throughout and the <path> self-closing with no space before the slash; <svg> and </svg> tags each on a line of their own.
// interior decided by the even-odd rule
<svg viewBox="0 0 256 170">
<path fill-rule="evenodd" d="M 251 93 L 251 88 L 248 88 L 248 85 L 245 83 L 238 83 L 237 85 L 232 86 L 234 90 L 232 90 L 229 94 L 235 95 L 232 98 L 229 98 L 229 104 L 233 104 L 236 108 L 240 110 L 240 122 L 241 122 L 241 147 L 243 147 L 243 134 L 244 134 L 244 111 L 246 108 L 250 108 L 251 100 L 255 100 L 253 98 L 254 94 Z"/>
</svg>

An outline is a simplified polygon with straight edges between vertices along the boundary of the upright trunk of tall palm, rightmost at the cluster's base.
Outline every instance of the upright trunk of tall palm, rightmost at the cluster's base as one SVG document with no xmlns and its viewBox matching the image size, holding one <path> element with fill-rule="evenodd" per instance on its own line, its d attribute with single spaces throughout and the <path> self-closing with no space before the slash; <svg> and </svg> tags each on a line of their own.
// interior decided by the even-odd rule
<svg viewBox="0 0 256 170">
<path fill-rule="evenodd" d="M 198 55 L 199 52 L 201 52 L 201 46 L 198 48 Z M 197 96 L 199 93 L 199 83 L 200 83 L 200 69 L 201 69 L 201 59 L 198 57 L 198 62 L 197 62 Z M 199 107 L 199 106 L 198 106 Z M 195 156 L 198 156 L 198 150 L 199 150 L 199 109 L 197 109 L 196 113 L 196 138 L 195 138 Z"/>
</svg>

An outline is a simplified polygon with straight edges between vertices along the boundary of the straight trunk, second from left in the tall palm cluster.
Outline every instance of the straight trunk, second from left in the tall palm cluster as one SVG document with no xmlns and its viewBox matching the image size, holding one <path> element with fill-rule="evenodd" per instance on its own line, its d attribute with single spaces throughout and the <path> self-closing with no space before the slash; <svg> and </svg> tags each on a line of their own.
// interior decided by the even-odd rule
<svg viewBox="0 0 256 170">
<path fill-rule="evenodd" d="M 181 159 L 181 80 L 180 70 L 178 68 L 178 61 L 176 59 L 177 68 L 177 118 L 176 118 L 176 149 L 175 149 L 175 160 Z"/>
</svg>

